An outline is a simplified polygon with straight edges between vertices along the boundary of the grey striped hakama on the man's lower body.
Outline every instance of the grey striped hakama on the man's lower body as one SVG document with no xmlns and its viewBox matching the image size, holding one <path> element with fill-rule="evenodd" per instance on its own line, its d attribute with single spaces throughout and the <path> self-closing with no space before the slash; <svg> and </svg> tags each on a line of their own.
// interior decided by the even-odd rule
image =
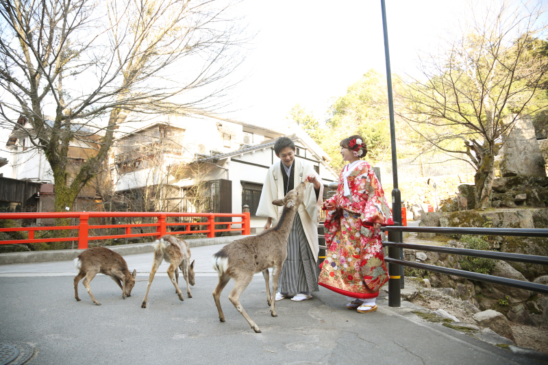
<svg viewBox="0 0 548 365">
<path fill-rule="evenodd" d="M 299 213 L 295 214 L 289 234 L 287 258 L 279 274 L 278 291 L 290 295 L 319 291 L 316 261 L 306 240 Z"/>
</svg>

